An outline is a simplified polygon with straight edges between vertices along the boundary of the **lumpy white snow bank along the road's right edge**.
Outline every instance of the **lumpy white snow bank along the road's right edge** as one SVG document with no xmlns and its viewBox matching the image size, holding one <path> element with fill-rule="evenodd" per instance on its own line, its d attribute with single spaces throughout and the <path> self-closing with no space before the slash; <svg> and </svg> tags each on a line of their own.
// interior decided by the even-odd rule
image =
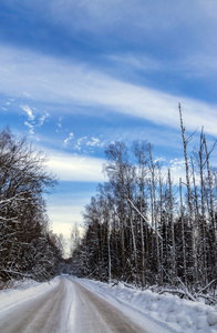
<svg viewBox="0 0 217 333">
<path fill-rule="evenodd" d="M 90 290 L 105 299 L 131 305 L 154 321 L 167 324 L 177 332 L 217 332 L 217 307 L 199 302 L 180 300 L 172 294 L 158 294 L 124 286 L 123 283 L 112 286 L 102 282 L 80 280 Z"/>
</svg>

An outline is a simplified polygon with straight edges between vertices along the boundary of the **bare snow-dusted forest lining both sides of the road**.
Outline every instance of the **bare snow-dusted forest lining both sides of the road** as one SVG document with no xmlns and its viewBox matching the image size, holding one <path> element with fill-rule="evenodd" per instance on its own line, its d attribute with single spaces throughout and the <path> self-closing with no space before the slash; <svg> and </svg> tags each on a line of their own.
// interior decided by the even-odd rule
<svg viewBox="0 0 217 333">
<path fill-rule="evenodd" d="M 84 229 L 72 232 L 71 258 L 52 233 L 44 193 L 55 176 L 46 158 L 10 130 L 0 132 L 0 280 L 49 280 L 61 272 L 104 282 L 123 281 L 182 294 L 215 292 L 217 285 L 217 170 L 210 165 L 216 142 L 204 130 L 188 151 L 179 105 L 185 179 L 153 154 L 146 141 L 105 149 L 108 178 L 83 212 Z M 189 293 L 188 293 L 189 292 Z M 208 297 L 208 296 L 207 296 Z M 209 303 L 211 303 L 209 295 Z"/>
</svg>

